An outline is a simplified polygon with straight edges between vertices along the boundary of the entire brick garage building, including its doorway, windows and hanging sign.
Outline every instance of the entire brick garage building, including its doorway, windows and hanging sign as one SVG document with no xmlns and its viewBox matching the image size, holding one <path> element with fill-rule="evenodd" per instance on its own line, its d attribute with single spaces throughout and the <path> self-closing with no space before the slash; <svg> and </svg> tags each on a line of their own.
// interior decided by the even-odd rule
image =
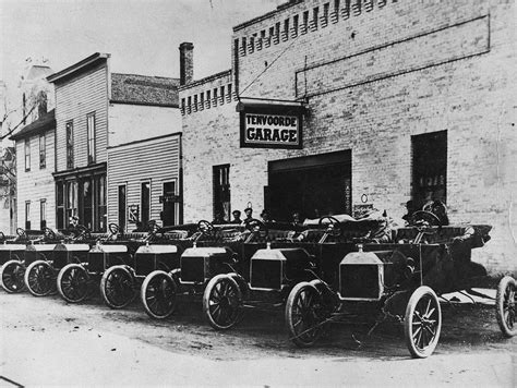
<svg viewBox="0 0 517 388">
<path fill-rule="evenodd" d="M 276 219 L 400 217 L 440 198 L 453 223 L 493 225 L 476 259 L 515 270 L 515 14 L 505 0 L 306 0 L 236 26 L 231 69 L 180 89 L 185 220 L 249 203 Z"/>
</svg>

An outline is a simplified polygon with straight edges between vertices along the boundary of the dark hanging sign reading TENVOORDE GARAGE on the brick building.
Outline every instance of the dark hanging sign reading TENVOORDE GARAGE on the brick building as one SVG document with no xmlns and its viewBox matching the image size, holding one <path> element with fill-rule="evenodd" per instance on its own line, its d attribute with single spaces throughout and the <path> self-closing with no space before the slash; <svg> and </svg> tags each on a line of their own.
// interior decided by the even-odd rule
<svg viewBox="0 0 517 388">
<path fill-rule="evenodd" d="M 302 110 L 299 102 L 240 101 L 241 147 L 302 148 Z"/>
</svg>

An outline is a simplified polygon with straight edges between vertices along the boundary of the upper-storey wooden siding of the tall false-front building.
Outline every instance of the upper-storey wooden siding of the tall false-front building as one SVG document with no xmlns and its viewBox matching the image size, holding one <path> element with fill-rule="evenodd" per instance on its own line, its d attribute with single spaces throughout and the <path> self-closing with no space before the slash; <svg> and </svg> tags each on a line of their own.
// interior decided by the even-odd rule
<svg viewBox="0 0 517 388">
<path fill-rule="evenodd" d="M 106 162 L 108 144 L 107 62 L 56 85 L 57 170 L 67 168 L 68 121 L 73 120 L 74 168 L 88 165 L 86 117 L 95 112 L 96 162 Z"/>
</svg>

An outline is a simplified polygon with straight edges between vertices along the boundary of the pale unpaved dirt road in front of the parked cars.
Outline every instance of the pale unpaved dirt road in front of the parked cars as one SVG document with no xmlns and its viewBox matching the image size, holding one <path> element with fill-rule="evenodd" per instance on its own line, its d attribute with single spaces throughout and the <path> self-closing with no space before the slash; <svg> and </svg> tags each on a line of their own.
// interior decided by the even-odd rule
<svg viewBox="0 0 517 388">
<path fill-rule="evenodd" d="M 218 332 L 192 302 L 165 322 L 151 320 L 139 300 L 111 311 L 98 298 L 71 305 L 0 291 L 0 387 L 516 385 L 517 339 L 502 338 L 493 307 L 480 304 L 443 306 L 426 360 L 408 356 L 393 323 L 371 336 L 364 325 L 333 325 L 315 348 L 297 349 L 280 310 L 248 310 Z"/>
</svg>

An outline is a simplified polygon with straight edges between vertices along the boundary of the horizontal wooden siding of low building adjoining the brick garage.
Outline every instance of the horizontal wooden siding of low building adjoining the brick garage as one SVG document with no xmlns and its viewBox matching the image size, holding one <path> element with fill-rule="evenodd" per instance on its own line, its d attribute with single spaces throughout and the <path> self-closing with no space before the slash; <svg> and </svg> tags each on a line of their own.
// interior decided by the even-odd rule
<svg viewBox="0 0 517 388">
<path fill-rule="evenodd" d="M 180 142 L 180 135 L 170 135 L 108 149 L 108 222 L 118 223 L 119 185 L 127 184 L 128 206 L 140 205 L 141 184 L 151 181 L 149 219 L 161 225 L 164 183 L 176 181 L 179 194 Z"/>
</svg>

